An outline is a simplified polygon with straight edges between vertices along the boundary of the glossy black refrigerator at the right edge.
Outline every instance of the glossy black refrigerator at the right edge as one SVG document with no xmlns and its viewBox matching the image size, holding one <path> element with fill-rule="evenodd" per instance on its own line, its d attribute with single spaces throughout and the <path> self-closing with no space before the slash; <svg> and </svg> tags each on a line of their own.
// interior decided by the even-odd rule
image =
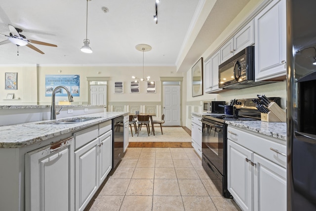
<svg viewBox="0 0 316 211">
<path fill-rule="evenodd" d="M 287 0 L 287 210 L 316 211 L 316 0 Z"/>
</svg>

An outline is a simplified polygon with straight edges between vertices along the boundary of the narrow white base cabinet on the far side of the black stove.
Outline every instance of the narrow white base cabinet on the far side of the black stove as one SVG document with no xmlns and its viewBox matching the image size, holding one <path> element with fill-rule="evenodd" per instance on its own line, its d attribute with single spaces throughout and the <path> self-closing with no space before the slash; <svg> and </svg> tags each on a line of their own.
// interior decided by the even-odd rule
<svg viewBox="0 0 316 211">
<path fill-rule="evenodd" d="M 201 117 L 192 115 L 191 117 L 191 137 L 192 137 L 192 146 L 202 158 L 202 122 Z"/>
</svg>

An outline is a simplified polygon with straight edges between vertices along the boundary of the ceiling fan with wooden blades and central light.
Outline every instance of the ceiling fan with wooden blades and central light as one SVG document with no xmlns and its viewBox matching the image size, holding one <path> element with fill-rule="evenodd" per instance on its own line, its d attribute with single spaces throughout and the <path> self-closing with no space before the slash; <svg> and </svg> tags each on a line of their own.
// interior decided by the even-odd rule
<svg viewBox="0 0 316 211">
<path fill-rule="evenodd" d="M 44 52 L 41 51 L 39 48 L 35 47 L 31 43 L 57 47 L 57 45 L 55 45 L 55 44 L 50 44 L 50 43 L 47 43 L 47 42 L 40 42 L 40 41 L 34 41 L 34 40 L 27 39 L 24 35 L 20 34 L 22 32 L 22 29 L 15 28 L 14 26 L 12 26 L 10 24 L 8 24 L 8 27 L 9 27 L 9 30 L 10 30 L 10 34 L 9 35 L 0 34 L 0 35 L 3 35 L 5 37 L 7 37 L 8 39 L 6 41 L 0 42 L 0 45 L 1 44 L 6 44 L 6 43 L 9 43 L 9 42 L 12 42 L 13 44 L 17 45 L 18 47 L 26 45 L 29 48 L 32 48 L 33 50 L 36 50 L 36 51 L 38 51 L 41 54 L 44 54 Z"/>
</svg>

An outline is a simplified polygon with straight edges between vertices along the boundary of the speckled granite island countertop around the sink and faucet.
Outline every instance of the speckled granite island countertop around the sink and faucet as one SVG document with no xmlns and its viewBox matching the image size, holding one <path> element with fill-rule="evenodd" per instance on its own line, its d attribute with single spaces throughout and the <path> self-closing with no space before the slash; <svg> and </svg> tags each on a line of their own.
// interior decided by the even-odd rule
<svg viewBox="0 0 316 211">
<path fill-rule="evenodd" d="M 119 116 L 128 115 L 128 112 L 100 112 L 94 114 L 61 118 L 57 120 L 45 120 L 33 123 L 0 127 L 0 148 L 19 148 L 56 137 L 61 134 L 75 132 L 85 127 L 97 125 L 102 122 L 114 119 Z M 50 125 L 46 123 L 60 122 L 78 118 L 96 118 L 91 121 L 66 124 Z"/>
</svg>

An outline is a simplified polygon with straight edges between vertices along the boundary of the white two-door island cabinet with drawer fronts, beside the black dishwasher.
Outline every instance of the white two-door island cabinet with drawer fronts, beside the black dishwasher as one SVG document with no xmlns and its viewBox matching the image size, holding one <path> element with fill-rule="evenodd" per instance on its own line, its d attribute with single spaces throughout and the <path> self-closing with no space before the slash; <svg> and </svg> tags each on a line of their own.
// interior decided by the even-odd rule
<svg viewBox="0 0 316 211">
<path fill-rule="evenodd" d="M 84 210 L 112 169 L 111 126 L 107 121 L 74 134 L 80 143 L 75 151 L 76 211 Z"/>
</svg>

